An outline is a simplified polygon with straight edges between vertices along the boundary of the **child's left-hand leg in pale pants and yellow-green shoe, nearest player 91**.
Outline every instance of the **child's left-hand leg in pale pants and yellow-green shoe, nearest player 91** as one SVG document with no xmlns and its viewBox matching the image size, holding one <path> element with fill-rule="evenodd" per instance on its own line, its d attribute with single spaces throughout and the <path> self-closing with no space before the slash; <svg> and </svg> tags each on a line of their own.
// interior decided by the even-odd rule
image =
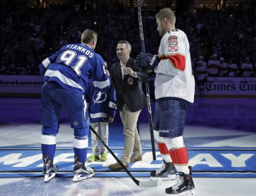
<svg viewBox="0 0 256 196">
<path fill-rule="evenodd" d="M 92 128 L 100 135 L 100 122 L 90 122 Z M 89 163 L 99 161 L 99 141 L 98 137 L 91 131 L 92 155 L 87 159 Z"/>
</svg>

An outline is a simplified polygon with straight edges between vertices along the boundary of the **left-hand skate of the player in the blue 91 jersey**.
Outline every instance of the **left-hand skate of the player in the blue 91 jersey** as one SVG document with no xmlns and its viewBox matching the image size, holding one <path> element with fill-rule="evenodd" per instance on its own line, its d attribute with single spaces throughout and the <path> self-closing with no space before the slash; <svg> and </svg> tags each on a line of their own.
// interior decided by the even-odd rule
<svg viewBox="0 0 256 196">
<path fill-rule="evenodd" d="M 50 161 L 50 157 L 43 155 L 44 169 L 43 174 L 45 175 L 45 182 L 53 179 L 57 174 L 58 168 L 53 165 L 53 161 Z"/>
</svg>

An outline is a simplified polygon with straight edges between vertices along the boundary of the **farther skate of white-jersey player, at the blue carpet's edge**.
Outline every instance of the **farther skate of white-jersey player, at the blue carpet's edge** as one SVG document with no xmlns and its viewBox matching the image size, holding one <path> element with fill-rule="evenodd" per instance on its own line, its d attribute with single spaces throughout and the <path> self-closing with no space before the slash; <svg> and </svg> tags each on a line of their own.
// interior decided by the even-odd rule
<svg viewBox="0 0 256 196">
<path fill-rule="evenodd" d="M 175 180 L 176 168 L 173 163 L 167 163 L 163 160 L 160 168 L 150 172 L 150 180 Z"/>
</svg>

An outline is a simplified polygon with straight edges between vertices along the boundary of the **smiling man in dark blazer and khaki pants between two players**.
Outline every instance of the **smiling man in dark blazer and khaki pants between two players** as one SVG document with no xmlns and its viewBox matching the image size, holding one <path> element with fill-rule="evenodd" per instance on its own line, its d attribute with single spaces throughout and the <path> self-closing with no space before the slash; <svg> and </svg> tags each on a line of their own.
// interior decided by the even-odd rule
<svg viewBox="0 0 256 196">
<path fill-rule="evenodd" d="M 120 161 L 129 167 L 130 162 L 142 161 L 142 147 L 137 130 L 138 116 L 146 107 L 146 97 L 142 91 L 142 81 L 145 75 L 136 66 L 135 60 L 130 58 L 130 43 L 121 40 L 117 45 L 117 56 L 120 60 L 112 64 L 110 78 L 116 90 L 117 108 L 124 125 L 125 145 Z M 133 152 L 133 155 L 131 156 Z M 109 169 L 121 170 L 117 162 L 109 165 Z"/>
</svg>

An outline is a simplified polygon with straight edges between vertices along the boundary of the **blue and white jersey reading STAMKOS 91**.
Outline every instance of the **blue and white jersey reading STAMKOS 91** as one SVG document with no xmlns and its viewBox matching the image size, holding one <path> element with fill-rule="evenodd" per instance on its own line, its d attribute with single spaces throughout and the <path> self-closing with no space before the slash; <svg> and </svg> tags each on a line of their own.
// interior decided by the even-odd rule
<svg viewBox="0 0 256 196">
<path fill-rule="evenodd" d="M 40 64 L 45 81 L 55 81 L 63 88 L 84 94 L 88 78 L 105 92 L 110 87 L 104 60 L 91 47 L 83 43 L 65 45 Z"/>
</svg>

